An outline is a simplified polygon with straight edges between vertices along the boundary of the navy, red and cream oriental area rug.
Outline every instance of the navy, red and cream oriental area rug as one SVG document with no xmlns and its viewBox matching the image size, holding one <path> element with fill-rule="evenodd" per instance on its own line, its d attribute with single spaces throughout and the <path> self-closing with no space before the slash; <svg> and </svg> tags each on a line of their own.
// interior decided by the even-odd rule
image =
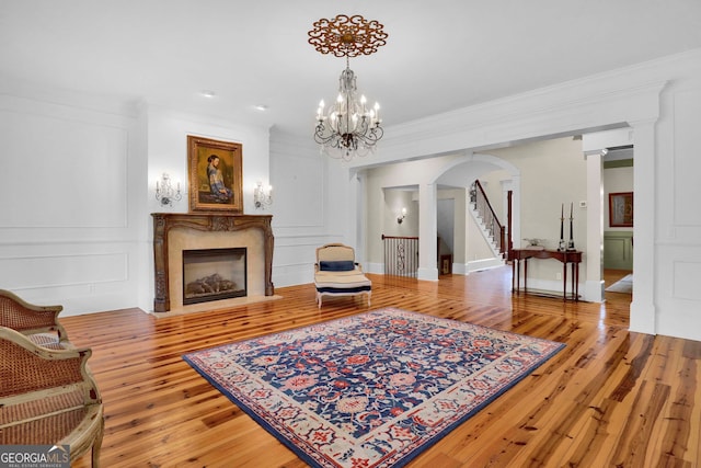
<svg viewBox="0 0 701 468">
<path fill-rule="evenodd" d="M 313 467 L 401 467 L 562 347 L 384 308 L 183 358 Z"/>
</svg>

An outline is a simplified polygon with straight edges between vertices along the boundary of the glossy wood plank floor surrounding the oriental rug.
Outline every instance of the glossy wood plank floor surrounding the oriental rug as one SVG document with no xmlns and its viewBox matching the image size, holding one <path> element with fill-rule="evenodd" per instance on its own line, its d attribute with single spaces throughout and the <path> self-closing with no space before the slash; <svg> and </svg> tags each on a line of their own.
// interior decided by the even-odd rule
<svg viewBox="0 0 701 468">
<path fill-rule="evenodd" d="M 607 272 L 607 284 L 628 272 Z M 510 267 L 440 281 L 372 279 L 372 307 L 566 343 L 411 467 L 700 466 L 701 342 L 628 331 L 631 296 L 604 304 L 512 296 Z M 62 319 L 90 346 L 105 404 L 102 466 L 303 467 L 182 358 L 186 352 L 367 310 L 311 284 L 232 310 L 154 318 L 129 309 Z M 79 467 L 89 466 L 83 457 Z"/>
</svg>

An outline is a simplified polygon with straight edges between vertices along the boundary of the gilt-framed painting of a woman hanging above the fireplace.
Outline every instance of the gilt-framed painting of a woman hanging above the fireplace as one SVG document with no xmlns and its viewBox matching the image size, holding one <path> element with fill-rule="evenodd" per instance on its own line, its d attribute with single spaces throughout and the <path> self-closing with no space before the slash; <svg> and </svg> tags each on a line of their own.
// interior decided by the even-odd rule
<svg viewBox="0 0 701 468">
<path fill-rule="evenodd" d="M 187 136 L 191 212 L 243 213 L 243 147 Z"/>
</svg>

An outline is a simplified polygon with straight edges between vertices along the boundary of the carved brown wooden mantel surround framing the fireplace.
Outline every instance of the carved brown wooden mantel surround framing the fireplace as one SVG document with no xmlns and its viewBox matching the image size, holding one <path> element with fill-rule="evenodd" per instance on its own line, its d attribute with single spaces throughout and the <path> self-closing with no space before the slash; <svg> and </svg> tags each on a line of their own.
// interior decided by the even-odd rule
<svg viewBox="0 0 701 468">
<path fill-rule="evenodd" d="M 273 296 L 273 247 L 271 227 L 273 215 L 237 215 L 221 213 L 152 213 L 153 217 L 153 269 L 156 274 L 156 297 L 153 310 L 171 310 L 169 276 L 169 231 L 174 228 L 200 232 L 234 232 L 257 229 L 263 233 L 264 287 L 265 296 Z"/>
</svg>

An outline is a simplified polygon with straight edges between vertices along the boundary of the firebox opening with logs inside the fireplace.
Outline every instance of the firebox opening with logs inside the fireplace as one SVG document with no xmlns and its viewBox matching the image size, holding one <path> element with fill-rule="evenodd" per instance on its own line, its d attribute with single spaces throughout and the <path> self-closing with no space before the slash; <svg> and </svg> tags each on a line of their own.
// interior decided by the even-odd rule
<svg viewBox="0 0 701 468">
<path fill-rule="evenodd" d="M 246 249 L 183 250 L 183 305 L 246 296 Z"/>
</svg>

